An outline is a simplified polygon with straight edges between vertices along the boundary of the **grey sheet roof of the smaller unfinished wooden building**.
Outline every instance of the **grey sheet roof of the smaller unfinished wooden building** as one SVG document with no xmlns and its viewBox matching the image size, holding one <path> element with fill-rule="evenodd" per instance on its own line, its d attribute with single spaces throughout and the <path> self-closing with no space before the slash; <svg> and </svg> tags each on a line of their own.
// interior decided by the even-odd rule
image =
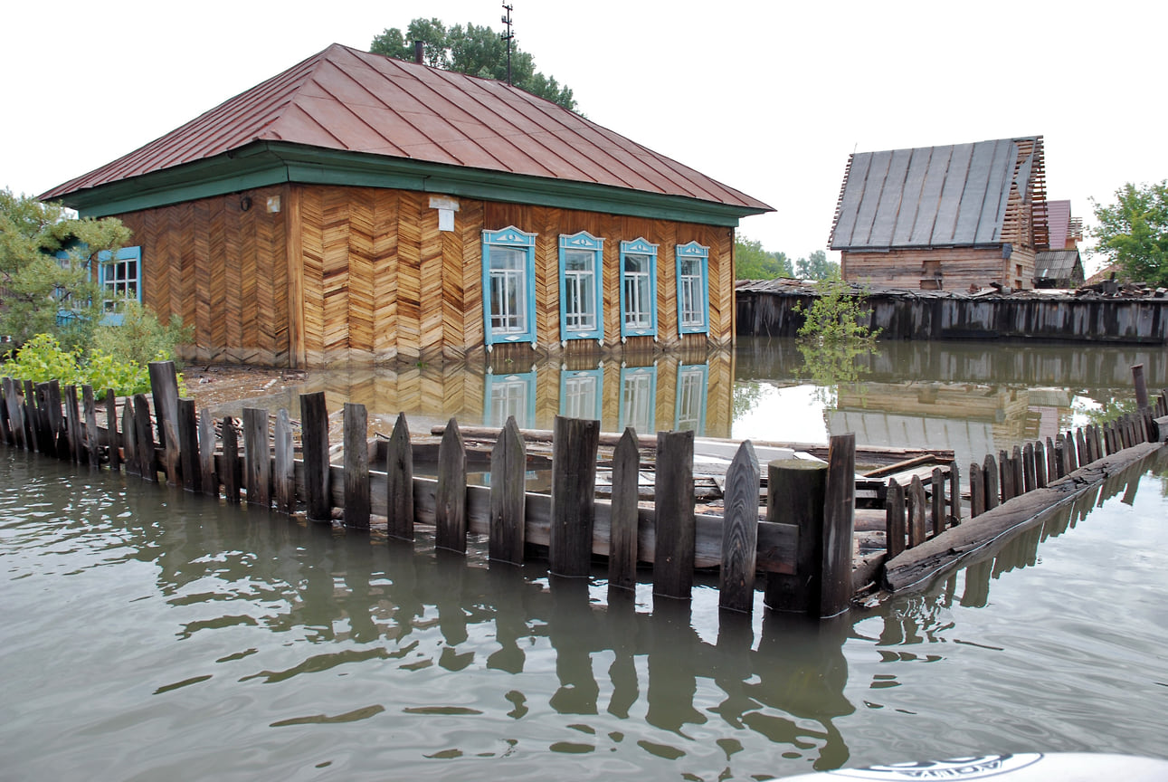
<svg viewBox="0 0 1168 782">
<path fill-rule="evenodd" d="M 1024 189 L 1034 155 L 1023 139 L 854 154 L 832 229 L 833 250 L 994 244 L 1010 187 Z"/>
</svg>

